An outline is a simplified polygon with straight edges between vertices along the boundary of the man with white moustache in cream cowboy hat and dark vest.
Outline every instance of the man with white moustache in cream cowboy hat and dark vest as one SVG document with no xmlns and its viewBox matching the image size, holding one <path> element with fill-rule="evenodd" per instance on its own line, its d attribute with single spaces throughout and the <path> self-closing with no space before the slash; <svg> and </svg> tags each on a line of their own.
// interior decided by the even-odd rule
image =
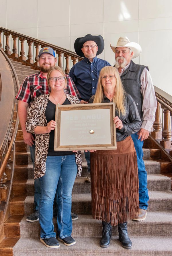
<svg viewBox="0 0 172 256">
<path fill-rule="evenodd" d="M 139 215 L 134 220 L 144 220 L 148 207 L 147 173 L 144 166 L 143 140 L 148 138 L 149 132 L 155 121 L 157 101 L 153 82 L 147 66 L 135 64 L 132 58 L 141 53 L 141 47 L 135 42 L 130 42 L 125 36 L 118 39 L 116 46 L 111 46 L 115 53 L 115 67 L 118 69 L 125 91 L 130 94 L 138 107 L 142 120 L 142 127 L 132 139 L 137 153 L 138 179 L 139 179 Z"/>
</svg>

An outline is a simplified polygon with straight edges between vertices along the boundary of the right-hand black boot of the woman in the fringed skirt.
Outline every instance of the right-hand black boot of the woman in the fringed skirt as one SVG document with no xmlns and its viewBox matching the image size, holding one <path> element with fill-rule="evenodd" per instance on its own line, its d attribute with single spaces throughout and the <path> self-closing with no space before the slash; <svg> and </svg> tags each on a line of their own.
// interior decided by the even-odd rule
<svg viewBox="0 0 172 256">
<path fill-rule="evenodd" d="M 132 242 L 128 237 L 127 222 L 118 224 L 119 240 L 122 243 L 122 247 L 131 249 Z"/>
</svg>

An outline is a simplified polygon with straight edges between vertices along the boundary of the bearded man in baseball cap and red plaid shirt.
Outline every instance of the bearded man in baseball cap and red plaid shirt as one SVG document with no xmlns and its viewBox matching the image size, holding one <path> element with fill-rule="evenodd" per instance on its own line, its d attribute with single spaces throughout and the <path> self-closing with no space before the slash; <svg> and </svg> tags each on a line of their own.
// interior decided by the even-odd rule
<svg viewBox="0 0 172 256">
<path fill-rule="evenodd" d="M 24 142 L 30 146 L 30 155 L 33 162 L 34 168 L 34 158 L 35 158 L 35 139 L 34 134 L 26 132 L 26 118 L 27 118 L 27 109 L 32 105 L 32 102 L 36 97 L 39 97 L 42 94 L 48 94 L 48 84 L 47 84 L 47 74 L 48 70 L 51 67 L 56 65 L 56 54 L 54 50 L 50 47 L 43 47 L 39 52 L 39 65 L 40 72 L 26 77 L 23 84 L 20 87 L 20 90 L 16 96 L 18 102 L 18 113 L 19 121 L 21 124 L 21 129 L 23 132 Z M 72 79 L 67 77 L 67 88 L 66 91 L 68 94 L 71 94 L 76 97 L 80 97 L 79 92 L 73 83 Z M 36 179 L 34 182 L 35 194 L 34 194 L 34 213 L 30 214 L 27 217 L 27 221 L 34 222 L 39 220 L 39 199 L 40 199 L 40 182 L 39 179 Z M 77 220 L 78 216 L 75 213 L 71 213 L 72 220 Z"/>
</svg>

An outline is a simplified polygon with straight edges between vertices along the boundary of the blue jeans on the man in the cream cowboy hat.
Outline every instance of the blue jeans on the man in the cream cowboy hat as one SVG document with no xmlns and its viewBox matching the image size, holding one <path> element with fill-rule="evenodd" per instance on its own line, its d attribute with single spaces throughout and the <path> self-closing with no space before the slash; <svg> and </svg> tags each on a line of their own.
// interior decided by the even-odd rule
<svg viewBox="0 0 172 256">
<path fill-rule="evenodd" d="M 138 140 L 137 133 L 131 135 L 137 154 L 138 181 L 139 181 L 139 208 L 146 210 L 148 208 L 148 189 L 147 189 L 147 172 L 143 161 L 143 141 Z"/>
</svg>

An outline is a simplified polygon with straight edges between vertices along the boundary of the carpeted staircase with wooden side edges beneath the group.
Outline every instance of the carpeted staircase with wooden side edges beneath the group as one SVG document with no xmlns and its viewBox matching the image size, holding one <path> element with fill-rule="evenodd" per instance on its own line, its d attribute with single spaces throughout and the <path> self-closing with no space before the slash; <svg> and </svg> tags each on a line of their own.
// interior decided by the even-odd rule
<svg viewBox="0 0 172 256">
<path fill-rule="evenodd" d="M 33 67 L 11 60 L 19 83 L 37 71 Z M 29 148 L 24 144 L 21 127 L 16 138 L 16 166 L 13 182 L 13 198 L 9 203 L 10 217 L 4 224 L 5 239 L 0 243 L 2 256 L 55 256 L 55 255 L 172 255 L 172 163 L 162 159 L 161 150 L 152 148 L 151 139 L 144 143 L 144 162 L 147 170 L 149 206 L 146 220 L 129 221 L 128 231 L 133 246 L 131 250 L 121 247 L 117 227 L 112 229 L 112 242 L 108 248 L 99 247 L 101 221 L 91 216 L 90 183 L 84 181 L 87 164 L 83 156 L 83 172 L 76 178 L 72 195 L 72 212 L 78 214 L 73 221 L 72 236 L 76 245 L 60 248 L 45 247 L 39 239 L 39 222 L 26 222 L 26 216 L 34 208 L 34 180 Z M 57 228 L 54 219 L 55 230 Z"/>
</svg>

